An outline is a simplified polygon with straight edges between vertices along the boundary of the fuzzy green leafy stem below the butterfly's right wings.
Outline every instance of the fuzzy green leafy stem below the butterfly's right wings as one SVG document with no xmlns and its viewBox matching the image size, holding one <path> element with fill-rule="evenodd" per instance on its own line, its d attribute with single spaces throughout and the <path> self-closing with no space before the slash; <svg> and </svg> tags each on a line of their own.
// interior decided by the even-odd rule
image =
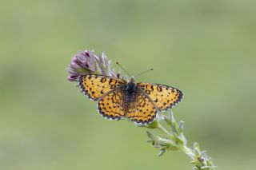
<svg viewBox="0 0 256 170">
<path fill-rule="evenodd" d="M 163 123 L 166 124 L 163 125 Z M 190 161 L 190 163 L 194 164 L 194 169 L 216 169 L 216 167 L 212 163 L 211 158 L 206 155 L 206 152 L 201 151 L 197 143 L 194 143 L 193 148 L 187 146 L 187 140 L 184 136 L 184 122 L 176 122 L 173 113 L 170 113 L 170 117 L 162 116 L 162 118 L 158 118 L 154 124 L 146 127 L 157 128 L 162 133 L 162 136 L 159 136 L 147 132 L 150 138 L 148 142 L 154 144 L 154 147 L 160 148 L 158 156 L 162 156 L 162 154 L 166 152 L 166 150 L 180 150 L 184 152 L 187 156 L 190 156 L 190 159 L 192 160 Z"/>
</svg>

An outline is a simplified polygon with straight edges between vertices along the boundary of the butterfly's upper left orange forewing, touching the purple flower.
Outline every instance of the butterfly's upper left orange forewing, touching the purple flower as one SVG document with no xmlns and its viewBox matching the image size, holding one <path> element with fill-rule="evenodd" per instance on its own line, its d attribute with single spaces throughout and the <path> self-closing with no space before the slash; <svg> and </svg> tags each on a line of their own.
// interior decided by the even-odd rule
<svg viewBox="0 0 256 170">
<path fill-rule="evenodd" d="M 82 92 L 93 101 L 97 101 L 112 89 L 126 85 L 126 81 L 122 79 L 102 75 L 85 75 L 79 77 L 78 81 Z"/>
</svg>

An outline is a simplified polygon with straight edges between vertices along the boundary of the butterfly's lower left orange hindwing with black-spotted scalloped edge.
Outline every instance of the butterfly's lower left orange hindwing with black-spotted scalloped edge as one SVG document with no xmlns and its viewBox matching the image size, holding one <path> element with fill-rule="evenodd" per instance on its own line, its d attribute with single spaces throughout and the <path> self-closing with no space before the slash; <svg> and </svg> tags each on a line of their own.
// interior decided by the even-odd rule
<svg viewBox="0 0 256 170">
<path fill-rule="evenodd" d="M 125 117 L 123 108 L 124 96 L 122 89 L 115 89 L 98 101 L 98 113 L 112 120 L 120 120 Z"/>
</svg>

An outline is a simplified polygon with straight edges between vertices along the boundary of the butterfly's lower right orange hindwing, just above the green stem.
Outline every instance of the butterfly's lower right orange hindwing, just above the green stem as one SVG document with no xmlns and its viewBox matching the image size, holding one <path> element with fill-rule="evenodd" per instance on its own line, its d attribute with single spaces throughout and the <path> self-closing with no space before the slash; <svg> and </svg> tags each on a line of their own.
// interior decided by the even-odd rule
<svg viewBox="0 0 256 170">
<path fill-rule="evenodd" d="M 154 121 L 157 114 L 157 109 L 153 102 L 140 91 L 136 93 L 136 100 L 127 103 L 125 109 L 126 117 L 130 119 L 130 121 L 144 125 Z"/>
</svg>

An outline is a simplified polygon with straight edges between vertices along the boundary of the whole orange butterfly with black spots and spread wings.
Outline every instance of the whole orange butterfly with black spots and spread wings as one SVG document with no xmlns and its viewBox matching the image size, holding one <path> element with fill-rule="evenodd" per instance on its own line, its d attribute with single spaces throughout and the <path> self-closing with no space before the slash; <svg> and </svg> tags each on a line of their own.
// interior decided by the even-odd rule
<svg viewBox="0 0 256 170">
<path fill-rule="evenodd" d="M 112 120 L 127 117 L 138 124 L 154 121 L 158 111 L 166 111 L 182 100 L 183 93 L 170 86 L 135 83 L 117 77 L 85 75 L 78 78 L 82 92 L 98 101 L 98 113 Z"/>
</svg>

